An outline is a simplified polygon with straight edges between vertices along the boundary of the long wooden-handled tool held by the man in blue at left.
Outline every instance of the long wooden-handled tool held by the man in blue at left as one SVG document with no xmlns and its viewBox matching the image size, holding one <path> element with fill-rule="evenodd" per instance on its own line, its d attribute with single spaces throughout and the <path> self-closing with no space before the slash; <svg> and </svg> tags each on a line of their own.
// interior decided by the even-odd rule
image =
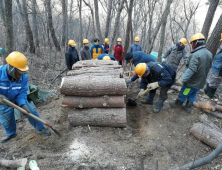
<svg viewBox="0 0 222 170">
<path fill-rule="evenodd" d="M 38 118 L 37 116 L 35 116 L 35 115 L 31 114 L 31 113 L 28 113 L 28 112 L 27 112 L 26 110 L 24 110 L 23 108 L 15 105 L 14 103 L 8 101 L 8 100 L 5 99 L 5 98 L 3 98 L 2 100 L 3 100 L 7 105 L 9 105 L 9 106 L 11 106 L 11 107 L 14 107 L 15 109 L 18 109 L 20 112 L 22 112 L 22 113 L 28 115 L 29 117 L 31 117 L 31 118 L 33 118 L 33 119 L 35 119 L 35 120 L 43 123 L 44 125 L 50 127 L 58 136 L 62 137 L 61 133 L 60 133 L 57 129 L 53 128 L 49 123 L 45 122 L 44 120 Z"/>
</svg>

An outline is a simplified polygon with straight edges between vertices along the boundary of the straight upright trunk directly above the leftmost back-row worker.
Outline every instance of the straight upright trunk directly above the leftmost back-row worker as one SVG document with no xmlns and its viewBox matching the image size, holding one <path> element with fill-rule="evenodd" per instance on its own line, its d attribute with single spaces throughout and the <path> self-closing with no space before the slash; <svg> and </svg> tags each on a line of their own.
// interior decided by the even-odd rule
<svg viewBox="0 0 222 170">
<path fill-rule="evenodd" d="M 62 46 L 66 45 L 66 31 L 67 31 L 67 0 L 62 0 Z"/>
</svg>

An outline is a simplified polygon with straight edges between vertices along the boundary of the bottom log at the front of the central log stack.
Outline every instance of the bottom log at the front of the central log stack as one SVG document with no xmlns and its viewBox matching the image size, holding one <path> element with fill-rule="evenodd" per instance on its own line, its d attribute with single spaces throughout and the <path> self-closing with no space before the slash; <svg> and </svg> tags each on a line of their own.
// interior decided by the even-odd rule
<svg viewBox="0 0 222 170">
<path fill-rule="evenodd" d="M 72 109 L 69 111 L 68 119 L 72 126 L 126 127 L 126 109 Z"/>
</svg>

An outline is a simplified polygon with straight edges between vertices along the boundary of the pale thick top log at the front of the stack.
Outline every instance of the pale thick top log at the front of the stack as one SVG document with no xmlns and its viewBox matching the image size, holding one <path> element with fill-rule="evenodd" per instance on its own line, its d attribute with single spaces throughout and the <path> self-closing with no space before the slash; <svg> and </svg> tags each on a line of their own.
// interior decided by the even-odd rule
<svg viewBox="0 0 222 170">
<path fill-rule="evenodd" d="M 60 93 L 67 96 L 122 96 L 127 91 L 125 80 L 122 78 L 103 77 L 63 77 Z"/>
</svg>

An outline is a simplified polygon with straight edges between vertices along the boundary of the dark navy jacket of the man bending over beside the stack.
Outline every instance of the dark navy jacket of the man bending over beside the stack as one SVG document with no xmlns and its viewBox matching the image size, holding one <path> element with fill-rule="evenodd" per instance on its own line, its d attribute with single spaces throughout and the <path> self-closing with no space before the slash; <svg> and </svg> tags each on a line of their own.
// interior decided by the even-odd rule
<svg viewBox="0 0 222 170">
<path fill-rule="evenodd" d="M 147 77 L 141 78 L 140 89 L 146 89 L 148 83 L 157 81 L 160 87 L 171 87 L 175 83 L 176 71 L 170 65 L 149 62 L 147 66 L 150 69 L 150 74 Z"/>
</svg>

